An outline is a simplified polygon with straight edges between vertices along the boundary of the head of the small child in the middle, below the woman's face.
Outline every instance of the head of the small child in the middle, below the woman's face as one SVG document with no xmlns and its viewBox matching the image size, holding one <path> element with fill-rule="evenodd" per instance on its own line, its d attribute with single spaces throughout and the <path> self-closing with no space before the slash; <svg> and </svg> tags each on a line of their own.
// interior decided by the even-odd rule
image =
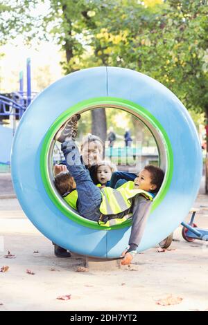
<svg viewBox="0 0 208 325">
<path fill-rule="evenodd" d="M 116 166 L 108 160 L 103 160 L 96 166 L 96 178 L 97 184 L 101 184 L 102 187 L 110 185 L 110 178 L 112 173 L 116 171 Z"/>
</svg>

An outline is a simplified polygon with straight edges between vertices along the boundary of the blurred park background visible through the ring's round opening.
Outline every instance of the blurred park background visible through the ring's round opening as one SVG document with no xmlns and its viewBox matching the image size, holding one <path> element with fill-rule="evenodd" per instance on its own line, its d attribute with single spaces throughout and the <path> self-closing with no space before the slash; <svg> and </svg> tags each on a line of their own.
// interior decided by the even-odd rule
<svg viewBox="0 0 208 325">
<path fill-rule="evenodd" d="M 138 173 L 145 165 L 159 165 L 157 143 L 148 127 L 134 115 L 121 109 L 105 108 L 86 111 L 78 121 L 79 147 L 88 133 L 96 134 L 104 143 L 103 156 L 122 171 Z M 105 119 L 94 121 L 94 113 Z M 104 129 L 104 130 L 103 130 Z M 62 163 L 64 156 L 60 142 L 55 142 L 53 163 Z"/>
</svg>

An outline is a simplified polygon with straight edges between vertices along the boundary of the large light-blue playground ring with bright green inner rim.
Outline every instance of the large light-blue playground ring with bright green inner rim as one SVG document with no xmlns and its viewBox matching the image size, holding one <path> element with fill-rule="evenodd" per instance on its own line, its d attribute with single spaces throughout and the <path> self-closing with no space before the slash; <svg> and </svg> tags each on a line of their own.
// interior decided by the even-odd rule
<svg viewBox="0 0 208 325">
<path fill-rule="evenodd" d="M 119 257 L 131 221 L 103 228 L 72 210 L 53 185 L 55 133 L 74 113 L 122 109 L 153 134 L 165 171 L 139 250 L 166 238 L 187 216 L 198 193 L 202 154 L 198 133 L 180 100 L 152 78 L 125 68 L 89 68 L 51 84 L 29 106 L 12 145 L 12 180 L 32 223 L 51 241 L 78 254 Z M 176 211 L 177 210 L 177 211 Z"/>
</svg>

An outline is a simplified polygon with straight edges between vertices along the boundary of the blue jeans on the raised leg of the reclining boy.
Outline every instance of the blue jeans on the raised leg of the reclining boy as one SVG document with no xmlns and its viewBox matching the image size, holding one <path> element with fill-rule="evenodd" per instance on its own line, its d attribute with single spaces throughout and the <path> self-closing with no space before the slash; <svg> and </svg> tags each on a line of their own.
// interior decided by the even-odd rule
<svg viewBox="0 0 208 325">
<path fill-rule="evenodd" d="M 86 219 L 98 221 L 101 212 L 101 189 L 92 182 L 89 170 L 81 163 L 78 147 L 73 140 L 62 143 L 62 151 L 67 162 L 67 169 L 76 182 L 78 192 L 78 212 Z"/>
</svg>

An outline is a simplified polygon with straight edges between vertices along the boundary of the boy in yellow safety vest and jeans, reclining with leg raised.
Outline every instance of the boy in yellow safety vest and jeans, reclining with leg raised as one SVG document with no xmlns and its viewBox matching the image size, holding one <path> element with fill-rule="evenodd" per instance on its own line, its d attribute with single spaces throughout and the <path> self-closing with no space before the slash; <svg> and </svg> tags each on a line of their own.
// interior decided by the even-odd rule
<svg viewBox="0 0 208 325">
<path fill-rule="evenodd" d="M 110 187 L 99 189 L 94 185 L 89 176 L 89 171 L 80 161 L 78 147 L 74 142 L 73 134 L 69 131 L 63 139 L 62 134 L 66 128 L 67 123 L 56 134 L 55 140 L 62 142 L 62 151 L 70 173 L 69 178 L 73 176 L 77 191 L 72 191 L 73 188 L 71 187 L 63 189 L 62 192 L 60 191 L 61 187 L 58 187 L 58 189 L 60 193 L 67 190 L 69 192 L 67 196 L 70 196 L 70 194 L 75 196 L 77 193 L 77 199 L 73 197 L 73 207 L 76 207 L 78 212 L 86 219 L 92 221 L 106 222 L 123 218 L 123 216 L 128 216 L 128 214 L 132 213 L 129 248 L 121 254 L 123 257 L 121 264 L 129 264 L 133 259 L 133 255 L 137 252 L 137 247 L 144 233 L 153 196 L 162 185 L 164 171 L 159 167 L 149 165 L 139 172 L 135 182 L 127 182 L 119 189 L 112 189 Z M 57 177 L 58 175 L 55 176 L 55 184 L 59 186 Z M 68 202 L 70 204 L 70 201 Z M 70 205 L 72 206 L 72 204 Z"/>
</svg>

